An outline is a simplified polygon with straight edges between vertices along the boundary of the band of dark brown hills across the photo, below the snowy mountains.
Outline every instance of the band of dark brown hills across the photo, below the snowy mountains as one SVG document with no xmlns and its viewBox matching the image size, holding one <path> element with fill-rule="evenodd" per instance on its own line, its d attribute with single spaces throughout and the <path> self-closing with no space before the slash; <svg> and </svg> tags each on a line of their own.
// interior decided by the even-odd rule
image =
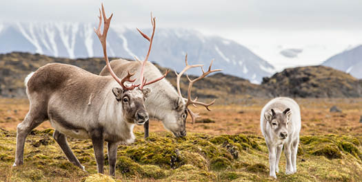
<svg viewBox="0 0 362 182">
<path fill-rule="evenodd" d="M 110 60 L 112 59 L 114 58 L 110 58 Z M 76 65 L 95 74 L 98 74 L 105 65 L 103 58 L 54 58 L 21 52 L 0 54 L 0 96 L 26 98 L 24 78 L 31 71 L 36 71 L 49 62 Z M 157 67 L 161 71 L 165 70 L 159 65 Z M 174 86 L 176 85 L 176 75 L 173 71 L 170 71 L 167 79 Z M 184 96 L 186 96 L 187 87 L 187 78 L 184 76 L 181 80 L 181 90 Z M 240 103 L 245 98 L 272 98 L 275 96 L 356 98 L 362 97 L 361 91 L 362 80 L 357 80 L 343 71 L 317 66 L 285 69 L 270 78 L 263 78 L 262 84 L 253 84 L 243 78 L 216 73 L 195 83 L 192 97 L 198 96 L 203 100 L 218 98 L 219 103 Z"/>
</svg>

